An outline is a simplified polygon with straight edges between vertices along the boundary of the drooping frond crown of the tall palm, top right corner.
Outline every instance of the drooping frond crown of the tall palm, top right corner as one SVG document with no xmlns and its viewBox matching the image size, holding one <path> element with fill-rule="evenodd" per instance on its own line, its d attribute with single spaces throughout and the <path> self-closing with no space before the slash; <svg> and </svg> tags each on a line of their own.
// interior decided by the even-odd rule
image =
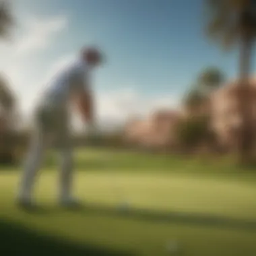
<svg viewBox="0 0 256 256">
<path fill-rule="evenodd" d="M 249 34 L 256 36 L 255 0 L 205 0 L 206 35 L 230 49 L 235 42 Z"/>
</svg>

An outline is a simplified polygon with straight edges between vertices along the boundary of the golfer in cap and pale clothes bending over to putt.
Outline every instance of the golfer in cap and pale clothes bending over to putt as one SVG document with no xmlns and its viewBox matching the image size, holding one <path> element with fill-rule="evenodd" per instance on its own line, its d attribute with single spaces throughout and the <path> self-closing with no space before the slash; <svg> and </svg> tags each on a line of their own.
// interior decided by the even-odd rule
<svg viewBox="0 0 256 256">
<path fill-rule="evenodd" d="M 90 73 L 101 63 L 100 51 L 94 47 L 86 47 L 75 61 L 59 70 L 49 81 L 34 115 L 34 134 L 18 191 L 20 206 L 34 206 L 33 185 L 44 150 L 51 143 L 54 143 L 61 153 L 59 202 L 67 207 L 79 203 L 71 195 L 72 147 L 69 109 L 71 101 L 75 102 L 89 129 L 92 132 L 95 130 Z"/>
</svg>

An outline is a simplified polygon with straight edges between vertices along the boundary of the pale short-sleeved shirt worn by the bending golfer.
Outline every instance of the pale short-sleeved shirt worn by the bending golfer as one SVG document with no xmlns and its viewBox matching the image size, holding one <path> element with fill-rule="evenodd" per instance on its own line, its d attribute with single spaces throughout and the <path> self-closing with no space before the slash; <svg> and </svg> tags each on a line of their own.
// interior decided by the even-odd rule
<svg viewBox="0 0 256 256">
<path fill-rule="evenodd" d="M 90 90 L 88 88 L 90 68 L 86 61 L 77 59 L 59 69 L 46 83 L 40 98 L 40 105 L 67 107 L 73 94 Z"/>
</svg>

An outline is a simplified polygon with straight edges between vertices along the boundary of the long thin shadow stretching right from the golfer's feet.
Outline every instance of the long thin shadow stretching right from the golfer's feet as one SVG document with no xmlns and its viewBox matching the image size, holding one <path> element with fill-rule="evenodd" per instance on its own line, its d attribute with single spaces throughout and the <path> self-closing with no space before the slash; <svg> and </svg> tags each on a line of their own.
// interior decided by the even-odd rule
<svg viewBox="0 0 256 256">
<path fill-rule="evenodd" d="M 34 214 L 55 214 L 60 211 L 63 210 L 58 208 L 47 210 L 44 208 L 38 212 L 34 212 Z M 74 214 L 94 214 L 96 216 L 114 216 L 147 222 L 169 222 L 174 224 L 212 226 L 214 228 L 228 228 L 256 232 L 256 220 L 243 220 L 199 213 L 160 212 L 153 210 L 139 210 L 131 207 L 108 207 L 95 204 L 87 204 L 83 207 L 66 211 L 73 211 Z"/>
</svg>

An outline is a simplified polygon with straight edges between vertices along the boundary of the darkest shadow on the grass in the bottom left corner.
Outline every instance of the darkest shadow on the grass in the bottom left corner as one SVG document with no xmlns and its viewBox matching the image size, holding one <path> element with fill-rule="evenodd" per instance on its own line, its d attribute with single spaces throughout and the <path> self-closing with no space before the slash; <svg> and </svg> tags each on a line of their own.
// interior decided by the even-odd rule
<svg viewBox="0 0 256 256">
<path fill-rule="evenodd" d="M 61 239 L 33 232 L 13 222 L 0 220 L 1 255 L 53 255 L 53 256 L 118 256 L 132 255 L 120 251 L 95 247 L 93 245 L 74 245 Z"/>
</svg>

